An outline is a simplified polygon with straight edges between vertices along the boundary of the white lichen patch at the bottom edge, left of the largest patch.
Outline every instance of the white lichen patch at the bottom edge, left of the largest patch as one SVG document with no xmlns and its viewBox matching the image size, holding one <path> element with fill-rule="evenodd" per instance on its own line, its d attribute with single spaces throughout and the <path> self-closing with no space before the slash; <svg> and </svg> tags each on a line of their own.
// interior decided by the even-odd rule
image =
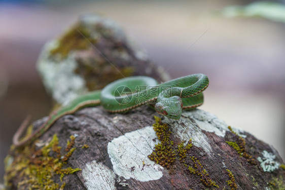
<svg viewBox="0 0 285 190">
<path fill-rule="evenodd" d="M 95 160 L 85 164 L 85 168 L 82 170 L 82 176 L 85 179 L 84 184 L 87 189 L 117 189 L 115 187 L 115 173 L 107 166 L 102 163 L 97 163 Z"/>
</svg>

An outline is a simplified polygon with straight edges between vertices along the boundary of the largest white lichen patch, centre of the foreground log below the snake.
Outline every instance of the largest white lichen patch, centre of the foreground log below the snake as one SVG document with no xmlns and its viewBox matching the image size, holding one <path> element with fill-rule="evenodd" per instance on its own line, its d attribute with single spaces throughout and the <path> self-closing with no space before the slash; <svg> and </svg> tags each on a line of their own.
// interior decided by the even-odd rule
<svg viewBox="0 0 285 190">
<path fill-rule="evenodd" d="M 163 168 L 148 159 L 157 136 L 153 127 L 145 127 L 126 133 L 108 143 L 108 154 L 114 172 L 125 179 L 138 181 L 157 180 L 162 177 Z"/>
</svg>

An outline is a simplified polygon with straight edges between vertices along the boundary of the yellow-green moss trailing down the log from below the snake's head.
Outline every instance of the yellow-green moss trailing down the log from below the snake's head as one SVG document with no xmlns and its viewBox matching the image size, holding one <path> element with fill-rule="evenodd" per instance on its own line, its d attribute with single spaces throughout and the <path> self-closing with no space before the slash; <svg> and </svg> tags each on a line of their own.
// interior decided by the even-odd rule
<svg viewBox="0 0 285 190">
<path fill-rule="evenodd" d="M 148 156 L 149 159 L 157 164 L 160 164 L 161 166 L 166 166 L 169 168 L 174 163 L 176 158 L 179 158 L 180 162 L 183 163 L 186 168 L 188 168 L 190 173 L 200 176 L 200 181 L 205 186 L 215 186 L 219 188 L 216 182 L 210 179 L 208 176 L 209 174 L 205 169 L 203 169 L 203 166 L 201 165 L 200 161 L 197 160 L 197 158 L 194 156 L 188 156 L 187 158 L 187 155 L 189 155 L 189 150 L 193 146 L 192 140 L 190 139 L 185 146 L 184 142 L 174 146 L 173 141 L 170 140 L 171 131 L 169 130 L 168 125 L 163 124 L 159 117 L 155 116 L 154 118 L 156 122 L 153 124 L 154 131 L 161 142 L 155 145 L 155 149 L 153 150 L 152 154 Z M 186 159 L 188 159 L 189 162 L 192 161 L 193 167 L 186 163 Z"/>
</svg>

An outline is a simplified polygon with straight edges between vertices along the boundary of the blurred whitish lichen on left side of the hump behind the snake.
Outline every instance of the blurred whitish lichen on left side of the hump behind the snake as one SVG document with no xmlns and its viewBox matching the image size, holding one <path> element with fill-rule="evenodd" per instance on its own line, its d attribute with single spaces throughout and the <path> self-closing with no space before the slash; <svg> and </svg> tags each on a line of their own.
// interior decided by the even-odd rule
<svg viewBox="0 0 285 190">
<path fill-rule="evenodd" d="M 37 68 L 52 97 L 58 103 L 66 105 L 80 94 L 87 92 L 87 88 L 84 79 L 74 72 L 78 65 L 73 54 L 60 61 L 49 58 L 49 52 L 57 46 L 56 40 L 45 45 L 37 62 Z"/>
</svg>

